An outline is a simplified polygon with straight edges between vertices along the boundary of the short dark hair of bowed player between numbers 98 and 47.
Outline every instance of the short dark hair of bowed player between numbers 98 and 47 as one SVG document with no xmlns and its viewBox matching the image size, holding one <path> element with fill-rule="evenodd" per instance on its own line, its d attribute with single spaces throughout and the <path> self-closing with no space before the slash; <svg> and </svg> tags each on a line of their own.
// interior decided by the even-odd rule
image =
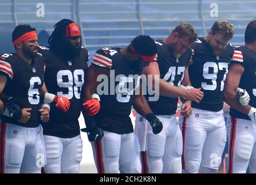
<svg viewBox="0 0 256 185">
<path fill-rule="evenodd" d="M 130 45 L 133 46 L 138 54 L 141 54 L 143 56 L 153 56 L 157 53 L 156 43 L 148 35 L 136 36 L 136 38 L 131 40 Z M 130 50 L 130 47 L 128 48 Z"/>
</svg>

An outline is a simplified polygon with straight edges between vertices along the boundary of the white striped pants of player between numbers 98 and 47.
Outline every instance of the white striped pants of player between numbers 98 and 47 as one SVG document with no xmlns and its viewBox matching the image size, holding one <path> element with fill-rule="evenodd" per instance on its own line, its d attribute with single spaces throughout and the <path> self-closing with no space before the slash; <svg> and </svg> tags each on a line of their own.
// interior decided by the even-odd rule
<svg viewBox="0 0 256 185">
<path fill-rule="evenodd" d="M 136 135 L 103 132 L 101 140 L 91 142 L 98 173 L 141 173 Z"/>
</svg>

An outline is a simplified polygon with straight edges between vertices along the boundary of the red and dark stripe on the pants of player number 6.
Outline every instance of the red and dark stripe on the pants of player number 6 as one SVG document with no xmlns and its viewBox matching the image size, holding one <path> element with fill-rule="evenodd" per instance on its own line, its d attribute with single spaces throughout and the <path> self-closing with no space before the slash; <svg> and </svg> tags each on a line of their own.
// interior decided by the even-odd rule
<svg viewBox="0 0 256 185">
<path fill-rule="evenodd" d="M 5 131 L 6 123 L 0 121 L 0 173 L 5 173 Z"/>
</svg>

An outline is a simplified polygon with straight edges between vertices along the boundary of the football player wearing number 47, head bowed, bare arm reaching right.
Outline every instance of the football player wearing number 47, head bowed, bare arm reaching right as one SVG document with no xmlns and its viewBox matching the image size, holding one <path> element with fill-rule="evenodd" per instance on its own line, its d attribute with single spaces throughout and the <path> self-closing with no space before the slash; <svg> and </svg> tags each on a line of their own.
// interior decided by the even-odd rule
<svg viewBox="0 0 256 185">
<path fill-rule="evenodd" d="M 180 85 L 191 86 L 188 64 L 192 50 L 189 47 L 197 36 L 192 25 L 178 24 L 166 39 L 156 40 L 158 58 L 143 69 L 147 76 L 160 76 L 160 97 L 158 101 L 148 103 L 162 121 L 163 131 L 158 135 L 153 134 L 148 121 L 137 114 L 135 133 L 140 143 L 142 173 L 181 173 L 182 135 L 175 114 L 177 97 L 186 97 L 196 102 L 203 98 L 200 89 L 178 88 Z M 181 114 L 188 117 L 192 111 L 191 101 L 184 102 L 181 109 Z"/>
</svg>

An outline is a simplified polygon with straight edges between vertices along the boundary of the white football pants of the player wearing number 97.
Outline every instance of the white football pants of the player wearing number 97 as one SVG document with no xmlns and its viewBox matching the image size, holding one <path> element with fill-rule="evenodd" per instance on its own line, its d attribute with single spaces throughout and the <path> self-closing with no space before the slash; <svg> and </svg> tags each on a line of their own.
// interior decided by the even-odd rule
<svg viewBox="0 0 256 185">
<path fill-rule="evenodd" d="M 184 173 L 217 173 L 226 143 L 223 110 L 211 112 L 192 109 L 188 118 L 180 116 L 183 137 L 182 169 Z M 208 170 L 206 168 L 209 168 Z"/>
</svg>

